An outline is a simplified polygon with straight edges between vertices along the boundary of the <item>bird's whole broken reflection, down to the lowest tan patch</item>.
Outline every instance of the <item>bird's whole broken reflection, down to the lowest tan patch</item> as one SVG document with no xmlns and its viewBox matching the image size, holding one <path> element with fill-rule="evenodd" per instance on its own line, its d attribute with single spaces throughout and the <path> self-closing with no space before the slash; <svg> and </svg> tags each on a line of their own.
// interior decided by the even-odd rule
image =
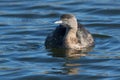
<svg viewBox="0 0 120 80">
<path fill-rule="evenodd" d="M 64 63 L 61 65 L 60 72 L 57 72 L 57 74 L 75 75 L 79 73 L 81 65 L 80 63 L 78 63 L 79 61 L 76 62 L 75 60 L 80 60 L 81 57 L 87 56 L 88 52 L 91 50 L 92 47 L 84 49 L 82 51 L 72 49 L 51 49 L 49 51 L 52 52 L 50 54 L 52 57 L 60 57 L 65 60 Z M 56 74 L 56 72 L 52 73 Z"/>
</svg>

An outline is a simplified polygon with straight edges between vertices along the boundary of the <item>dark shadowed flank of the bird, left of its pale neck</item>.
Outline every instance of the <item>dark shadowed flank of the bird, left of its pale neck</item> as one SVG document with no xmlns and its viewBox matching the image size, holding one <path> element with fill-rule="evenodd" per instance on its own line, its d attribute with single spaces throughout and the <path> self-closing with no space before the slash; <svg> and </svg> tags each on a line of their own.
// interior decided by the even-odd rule
<svg viewBox="0 0 120 80">
<path fill-rule="evenodd" d="M 65 35 L 66 28 L 59 25 L 45 41 L 46 48 L 57 48 L 62 46 L 62 40 Z"/>
</svg>

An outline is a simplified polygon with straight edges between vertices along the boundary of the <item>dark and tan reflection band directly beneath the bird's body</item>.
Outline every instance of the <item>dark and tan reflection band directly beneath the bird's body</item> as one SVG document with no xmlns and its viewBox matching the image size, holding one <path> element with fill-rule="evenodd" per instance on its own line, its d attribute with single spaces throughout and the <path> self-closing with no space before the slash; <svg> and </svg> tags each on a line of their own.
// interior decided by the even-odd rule
<svg viewBox="0 0 120 80">
<path fill-rule="evenodd" d="M 61 57 L 61 58 L 80 58 L 86 56 L 88 52 L 92 50 L 93 47 L 85 48 L 84 50 L 74 50 L 74 49 L 50 49 L 52 52 L 50 55 L 52 57 Z"/>
</svg>

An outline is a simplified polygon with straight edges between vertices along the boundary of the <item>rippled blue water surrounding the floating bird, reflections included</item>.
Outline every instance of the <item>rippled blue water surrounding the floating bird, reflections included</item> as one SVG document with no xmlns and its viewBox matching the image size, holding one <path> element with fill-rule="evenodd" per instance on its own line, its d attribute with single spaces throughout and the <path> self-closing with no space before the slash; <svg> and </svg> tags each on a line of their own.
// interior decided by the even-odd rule
<svg viewBox="0 0 120 80">
<path fill-rule="evenodd" d="M 92 51 L 45 49 L 64 13 L 93 34 Z M 120 80 L 120 0 L 0 0 L 0 79 Z"/>
</svg>

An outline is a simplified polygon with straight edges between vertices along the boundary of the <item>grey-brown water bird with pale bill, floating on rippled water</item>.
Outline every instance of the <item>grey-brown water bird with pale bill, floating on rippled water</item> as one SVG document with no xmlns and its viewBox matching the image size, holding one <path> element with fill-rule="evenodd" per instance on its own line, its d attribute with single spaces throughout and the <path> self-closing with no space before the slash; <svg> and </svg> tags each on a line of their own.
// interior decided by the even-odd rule
<svg viewBox="0 0 120 80">
<path fill-rule="evenodd" d="M 78 22 L 73 14 L 63 14 L 56 29 L 45 40 L 45 47 L 82 50 L 94 46 L 92 34 Z"/>
</svg>

